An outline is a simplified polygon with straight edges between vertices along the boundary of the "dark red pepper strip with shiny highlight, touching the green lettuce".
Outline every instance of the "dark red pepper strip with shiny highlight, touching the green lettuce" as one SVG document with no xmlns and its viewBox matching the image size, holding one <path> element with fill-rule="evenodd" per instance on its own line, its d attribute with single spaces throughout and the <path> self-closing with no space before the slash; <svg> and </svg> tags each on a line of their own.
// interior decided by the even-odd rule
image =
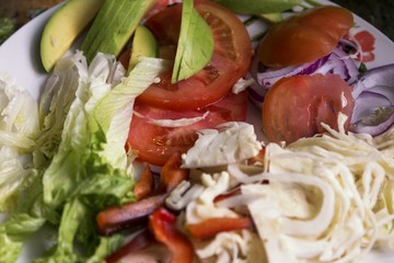
<svg viewBox="0 0 394 263">
<path fill-rule="evenodd" d="M 148 221 L 148 216 L 158 209 L 166 195 L 154 195 L 137 203 L 124 206 L 112 206 L 99 213 L 96 222 L 102 235 L 109 235 L 118 230 L 138 226 Z"/>
</svg>

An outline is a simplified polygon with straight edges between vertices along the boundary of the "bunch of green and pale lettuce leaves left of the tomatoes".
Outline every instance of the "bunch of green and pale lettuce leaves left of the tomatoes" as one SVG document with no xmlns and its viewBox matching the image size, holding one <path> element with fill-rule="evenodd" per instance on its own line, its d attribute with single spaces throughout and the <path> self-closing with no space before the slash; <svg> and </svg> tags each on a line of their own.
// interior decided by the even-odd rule
<svg viewBox="0 0 394 263">
<path fill-rule="evenodd" d="M 58 72 L 61 81 L 43 96 L 40 105 L 49 102 L 49 106 L 40 107 L 44 129 L 38 140 L 46 138 L 51 145 L 37 144 L 26 198 L 1 225 L 0 248 L 12 248 L 0 250 L 4 253 L 1 259 L 10 259 L 9 262 L 21 253 L 25 239 L 45 222 L 59 226 L 58 240 L 38 262 L 100 262 L 120 243 L 120 238 L 103 239 L 96 235 L 94 215 L 108 205 L 134 201 L 134 171 L 124 148 L 132 103 L 158 81 L 169 62 L 141 58 L 127 78 L 119 79 L 124 70 L 113 56 L 99 54 L 90 67 L 84 61 L 80 53 L 60 60 L 60 66 L 68 65 Z M 65 99 L 69 103 L 65 104 L 60 94 L 70 96 Z M 18 217 L 24 218 L 21 226 L 32 227 L 13 227 L 12 218 Z M 76 251 L 76 244 L 82 244 L 83 254 Z"/>
</svg>

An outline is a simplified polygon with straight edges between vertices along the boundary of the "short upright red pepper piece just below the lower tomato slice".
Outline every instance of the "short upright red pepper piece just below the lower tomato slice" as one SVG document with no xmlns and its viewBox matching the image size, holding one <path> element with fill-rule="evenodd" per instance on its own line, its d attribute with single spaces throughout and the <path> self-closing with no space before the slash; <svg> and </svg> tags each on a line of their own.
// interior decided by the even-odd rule
<svg viewBox="0 0 394 263">
<path fill-rule="evenodd" d="M 175 152 L 170 157 L 170 159 L 164 163 L 160 171 L 160 185 L 159 190 L 162 192 L 171 192 L 176 185 L 182 181 L 188 179 L 188 169 L 181 168 L 182 157 L 179 152 Z"/>
</svg>

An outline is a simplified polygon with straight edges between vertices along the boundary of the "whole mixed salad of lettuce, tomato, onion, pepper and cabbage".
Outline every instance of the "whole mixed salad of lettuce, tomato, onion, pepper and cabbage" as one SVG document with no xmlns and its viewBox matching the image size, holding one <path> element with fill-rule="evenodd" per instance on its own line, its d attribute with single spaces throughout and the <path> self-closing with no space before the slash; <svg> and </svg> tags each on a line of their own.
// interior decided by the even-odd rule
<svg viewBox="0 0 394 263">
<path fill-rule="evenodd" d="M 38 103 L 0 73 L 1 262 L 43 228 L 35 262 L 355 262 L 392 249 L 394 67 L 369 68 L 349 11 L 90 3 L 76 50 L 42 46 Z"/>
</svg>

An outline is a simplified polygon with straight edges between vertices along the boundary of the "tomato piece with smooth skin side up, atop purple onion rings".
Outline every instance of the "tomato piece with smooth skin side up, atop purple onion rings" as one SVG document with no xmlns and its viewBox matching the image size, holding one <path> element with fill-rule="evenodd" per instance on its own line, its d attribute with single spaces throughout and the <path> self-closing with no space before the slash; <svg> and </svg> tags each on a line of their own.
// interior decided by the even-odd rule
<svg viewBox="0 0 394 263">
<path fill-rule="evenodd" d="M 347 9 L 310 9 L 273 26 L 260 42 L 257 56 L 267 67 L 315 61 L 333 52 L 352 25 L 352 14 Z"/>
</svg>

